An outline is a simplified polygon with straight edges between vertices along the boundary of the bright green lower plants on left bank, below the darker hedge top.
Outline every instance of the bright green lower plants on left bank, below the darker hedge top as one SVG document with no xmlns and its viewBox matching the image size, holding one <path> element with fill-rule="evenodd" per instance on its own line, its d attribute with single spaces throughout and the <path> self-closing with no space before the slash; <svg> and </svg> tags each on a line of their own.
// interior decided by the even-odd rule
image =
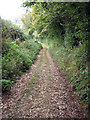
<svg viewBox="0 0 90 120">
<path fill-rule="evenodd" d="M 2 79 L 16 81 L 18 75 L 29 69 L 40 49 L 41 45 L 33 40 L 26 40 L 20 45 L 13 41 L 5 42 L 2 51 Z M 5 80 L 2 81 L 3 89 L 9 87 Z"/>
</svg>

